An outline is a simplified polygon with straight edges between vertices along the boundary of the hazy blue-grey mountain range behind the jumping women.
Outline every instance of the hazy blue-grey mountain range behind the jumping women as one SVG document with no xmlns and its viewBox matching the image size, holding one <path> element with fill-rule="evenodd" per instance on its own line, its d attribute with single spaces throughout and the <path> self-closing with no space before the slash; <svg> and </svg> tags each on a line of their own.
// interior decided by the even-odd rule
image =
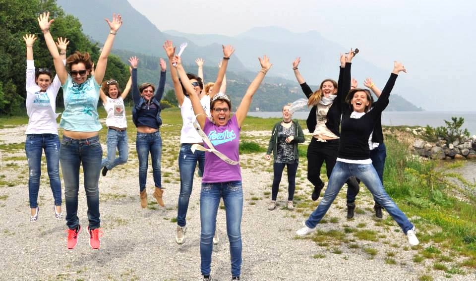
<svg viewBox="0 0 476 281">
<path fill-rule="evenodd" d="M 176 46 L 187 42 L 188 46 L 182 54 L 183 64 L 195 65 L 195 58 L 204 58 L 205 66 L 211 67 L 208 68 L 210 75 L 205 77 L 209 81 L 213 79 L 207 79 L 207 77 L 215 77 L 218 70 L 216 64 L 222 57 L 220 45 L 231 44 L 236 48 L 236 52 L 230 61 L 227 76 L 229 79 L 235 78 L 233 83 L 249 84 L 246 80 L 251 80 L 260 69 L 257 57 L 269 56 L 273 67 L 264 82 L 275 84 L 274 87 L 268 85 L 266 88 L 268 88 L 267 92 L 272 89 L 277 91 L 273 96 L 276 103 L 268 101 L 264 105 L 255 99 L 252 105 L 266 111 L 280 110 L 282 103 L 277 101 L 292 102 L 295 100 L 296 97 L 290 93 L 295 93 L 298 89 L 292 70 L 292 62 L 297 56 L 301 57 L 299 70 L 308 84 L 319 85 L 320 81 L 325 78 L 337 80 L 339 54 L 348 51 L 322 37 L 317 31 L 293 33 L 279 27 L 256 27 L 234 37 L 187 34 L 174 30 L 159 30 L 149 19 L 135 10 L 127 0 L 83 0 L 81 5 L 68 0 L 58 0 L 57 2 L 66 13 L 79 18 L 83 31 L 94 41 L 100 43 L 105 41 L 109 30 L 103 19 L 111 18 L 113 12 L 120 13 L 124 24 L 118 32 L 113 53 L 119 55 L 124 62 L 126 62 L 127 56 L 131 55 L 137 55 L 139 58 L 141 55 L 148 56 L 149 60 L 159 56 L 165 57 L 165 52 L 162 49 L 165 40 L 172 40 Z M 358 46 L 354 47 L 358 48 Z M 370 76 L 375 84 L 382 88 L 392 67 L 392 62 L 389 62 L 389 69 L 382 70 L 368 61 L 359 59 L 357 55 L 354 58 L 353 73 L 357 81 L 363 81 L 365 77 Z M 195 72 L 194 69 L 196 66 L 193 66 L 193 71 L 190 71 Z M 144 69 L 142 77 L 154 77 L 155 74 L 151 74 L 154 70 L 158 71 L 157 69 Z M 146 73 L 148 71 L 149 73 Z M 420 111 L 420 108 L 399 95 L 399 93 L 405 93 L 404 96 L 411 96 L 415 93 L 415 90 L 406 86 L 404 79 L 401 80 L 394 87 L 391 103 L 387 110 Z M 227 92 L 235 92 L 232 87 L 233 83 L 229 83 Z M 169 86 L 172 85 L 169 84 Z M 246 89 L 242 85 L 238 88 Z M 264 87 L 262 88 L 264 89 Z M 317 88 L 318 86 L 313 86 L 313 89 Z M 244 92 L 237 94 L 239 97 Z M 301 96 L 299 95 L 299 98 Z M 277 97 L 279 98 L 277 99 Z"/>
</svg>

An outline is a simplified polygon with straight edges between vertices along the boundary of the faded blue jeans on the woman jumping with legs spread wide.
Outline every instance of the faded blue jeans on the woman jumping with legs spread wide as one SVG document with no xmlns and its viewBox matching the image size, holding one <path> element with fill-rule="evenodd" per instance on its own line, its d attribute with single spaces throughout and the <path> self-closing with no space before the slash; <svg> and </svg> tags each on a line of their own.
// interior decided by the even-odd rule
<svg viewBox="0 0 476 281">
<path fill-rule="evenodd" d="M 387 210 L 397 224 L 400 225 L 405 234 L 407 234 L 408 230 L 413 228 L 412 223 L 410 223 L 405 214 L 400 211 L 397 205 L 395 205 L 388 196 L 387 192 L 385 192 L 385 189 L 383 189 L 382 182 L 371 164 L 348 164 L 340 161 L 336 163 L 332 170 L 324 198 L 322 198 L 317 209 L 312 212 L 306 221 L 307 227 L 316 227 L 327 210 L 329 210 L 329 207 L 334 199 L 336 199 L 337 194 L 346 180 L 351 176 L 356 176 L 365 184 L 367 189 L 372 193 L 373 198 Z"/>
</svg>

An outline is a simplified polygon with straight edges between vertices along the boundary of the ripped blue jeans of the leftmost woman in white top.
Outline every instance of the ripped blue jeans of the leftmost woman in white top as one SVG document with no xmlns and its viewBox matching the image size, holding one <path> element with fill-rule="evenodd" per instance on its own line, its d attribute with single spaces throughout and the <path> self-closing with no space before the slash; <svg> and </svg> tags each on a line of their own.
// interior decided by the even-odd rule
<svg viewBox="0 0 476 281">
<path fill-rule="evenodd" d="M 38 207 L 43 149 L 45 150 L 46 165 L 55 206 L 61 206 L 60 138 L 55 134 L 28 134 L 26 135 L 25 152 L 28 159 L 28 169 L 30 170 L 28 194 L 30 208 L 32 209 Z"/>
</svg>

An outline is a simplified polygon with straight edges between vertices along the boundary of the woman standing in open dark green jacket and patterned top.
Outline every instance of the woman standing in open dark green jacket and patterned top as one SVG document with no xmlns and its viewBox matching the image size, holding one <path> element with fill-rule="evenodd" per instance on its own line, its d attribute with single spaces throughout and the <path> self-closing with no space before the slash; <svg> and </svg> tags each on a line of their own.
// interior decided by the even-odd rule
<svg viewBox="0 0 476 281">
<path fill-rule="evenodd" d="M 301 125 L 296 120 L 292 120 L 293 113 L 290 112 L 291 104 L 283 107 L 283 121 L 276 123 L 271 131 L 266 160 L 270 160 L 273 151 L 273 187 L 271 188 L 271 202 L 268 210 L 276 209 L 276 198 L 278 196 L 279 183 L 283 175 L 284 167 L 288 167 L 288 210 L 293 210 L 293 198 L 296 188 L 296 172 L 299 164 L 299 152 L 297 144 L 304 142 L 304 133 Z"/>
</svg>

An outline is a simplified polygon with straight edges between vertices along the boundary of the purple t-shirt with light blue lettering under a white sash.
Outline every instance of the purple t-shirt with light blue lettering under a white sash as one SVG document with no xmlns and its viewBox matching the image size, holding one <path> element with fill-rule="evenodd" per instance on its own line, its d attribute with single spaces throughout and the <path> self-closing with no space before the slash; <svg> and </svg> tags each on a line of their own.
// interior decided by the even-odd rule
<svg viewBox="0 0 476 281">
<path fill-rule="evenodd" d="M 239 159 L 239 131 L 237 115 L 228 120 L 225 126 L 217 126 L 208 118 L 205 120 L 203 132 L 208 136 L 216 150 L 234 161 Z M 204 147 L 209 148 L 206 143 Z M 241 170 L 238 165 L 230 165 L 211 152 L 205 152 L 205 169 L 202 182 L 241 181 Z"/>
</svg>

